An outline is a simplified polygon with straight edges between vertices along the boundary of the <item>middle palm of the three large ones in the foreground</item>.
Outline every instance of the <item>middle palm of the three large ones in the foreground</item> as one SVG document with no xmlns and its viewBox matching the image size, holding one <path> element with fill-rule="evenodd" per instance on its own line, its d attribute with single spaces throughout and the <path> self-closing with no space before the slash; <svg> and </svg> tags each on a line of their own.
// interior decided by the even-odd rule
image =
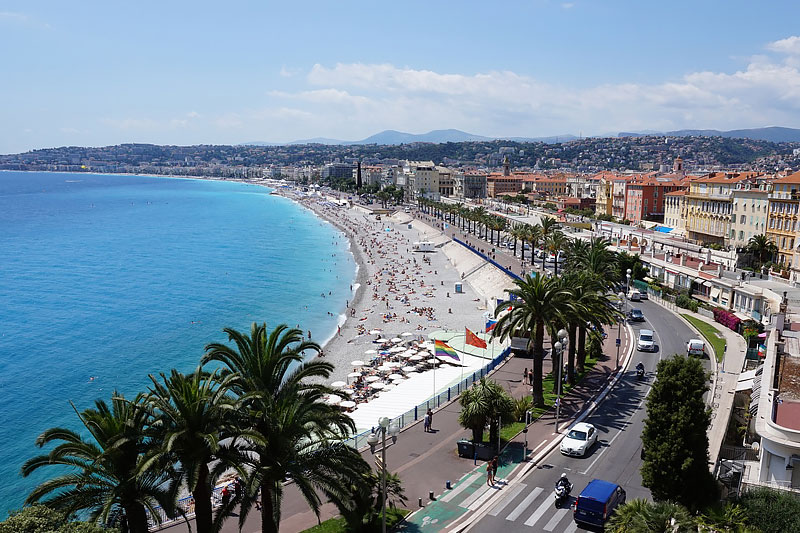
<svg viewBox="0 0 800 533">
<path fill-rule="evenodd" d="M 148 462 L 179 464 L 177 477 L 194 498 L 197 532 L 218 531 L 227 509 L 214 517 L 214 486 L 224 468 L 243 460 L 236 449 L 236 437 L 243 432 L 235 425 L 227 383 L 200 369 L 189 375 L 173 369 L 169 377 L 161 374 L 163 383 L 152 375 L 150 380 L 147 408 L 153 422 L 148 433 L 159 446 Z M 221 444 L 230 438 L 234 440 Z M 212 462 L 217 464 L 214 469 Z"/>
</svg>

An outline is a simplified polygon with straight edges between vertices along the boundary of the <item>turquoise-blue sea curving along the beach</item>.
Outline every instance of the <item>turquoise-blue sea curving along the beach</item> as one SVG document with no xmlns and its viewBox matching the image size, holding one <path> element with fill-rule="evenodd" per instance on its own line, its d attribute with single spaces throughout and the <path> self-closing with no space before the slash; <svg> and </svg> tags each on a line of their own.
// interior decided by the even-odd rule
<svg viewBox="0 0 800 533">
<path fill-rule="evenodd" d="M 70 406 L 192 371 L 224 327 L 333 334 L 355 264 L 344 236 L 269 189 L 0 172 L 0 520 L 48 477 L 19 469 Z M 330 293 L 330 294 L 329 294 Z M 323 297 L 324 295 L 324 297 Z"/>
</svg>

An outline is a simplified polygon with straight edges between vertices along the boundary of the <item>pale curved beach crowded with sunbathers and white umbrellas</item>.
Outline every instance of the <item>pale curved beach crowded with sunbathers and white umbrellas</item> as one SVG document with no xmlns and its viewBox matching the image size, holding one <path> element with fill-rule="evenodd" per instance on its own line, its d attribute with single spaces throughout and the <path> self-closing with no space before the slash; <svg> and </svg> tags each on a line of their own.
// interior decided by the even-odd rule
<svg viewBox="0 0 800 533">
<path fill-rule="evenodd" d="M 335 366 L 330 381 L 343 382 L 353 395 L 350 411 L 359 430 L 374 426 L 380 416 L 413 409 L 505 349 L 483 333 L 494 299 L 503 298 L 503 289 L 512 285 L 498 269 L 402 211 L 378 220 L 363 207 L 338 205 L 333 198 L 287 188 L 279 194 L 311 209 L 350 240 L 358 265 L 353 295 L 322 357 Z M 435 251 L 415 252 L 417 241 L 433 242 Z M 465 328 L 490 341 L 487 348 L 465 345 Z M 459 360 L 443 357 L 441 364 L 429 364 L 434 339 L 452 346 Z M 376 381 L 384 386 L 372 390 Z"/>
</svg>

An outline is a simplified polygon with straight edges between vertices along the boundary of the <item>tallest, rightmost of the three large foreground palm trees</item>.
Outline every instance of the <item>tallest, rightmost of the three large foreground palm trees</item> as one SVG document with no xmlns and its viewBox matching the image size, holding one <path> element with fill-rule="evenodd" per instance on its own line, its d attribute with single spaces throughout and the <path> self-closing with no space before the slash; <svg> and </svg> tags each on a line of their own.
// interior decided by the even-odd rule
<svg viewBox="0 0 800 533">
<path fill-rule="evenodd" d="M 223 365 L 222 376 L 231 378 L 230 390 L 238 397 L 237 410 L 251 428 L 247 483 L 257 490 L 245 491 L 240 527 L 260 492 L 262 531 L 278 531 L 287 478 L 319 516 L 317 491 L 342 501 L 353 480 L 369 468 L 358 452 L 339 445 L 355 431 L 353 420 L 322 401 L 326 394 L 340 394 L 321 384 L 333 365 L 306 361 L 305 352 L 319 352 L 319 345 L 285 324 L 268 332 L 266 324 L 253 323 L 249 336 L 224 331 L 235 347 L 209 344 L 201 364 Z"/>
</svg>

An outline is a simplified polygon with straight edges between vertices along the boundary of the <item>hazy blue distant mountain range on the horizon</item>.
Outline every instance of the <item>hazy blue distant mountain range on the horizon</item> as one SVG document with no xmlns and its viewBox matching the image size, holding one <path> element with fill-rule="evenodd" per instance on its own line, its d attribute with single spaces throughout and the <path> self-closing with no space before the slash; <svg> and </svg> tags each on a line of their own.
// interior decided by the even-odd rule
<svg viewBox="0 0 800 533">
<path fill-rule="evenodd" d="M 782 128 L 778 126 L 771 126 L 767 128 L 752 128 L 740 129 L 730 131 L 720 130 L 676 130 L 667 132 L 658 131 L 642 131 L 642 132 L 620 132 L 617 137 L 642 137 L 646 135 L 663 135 L 669 137 L 728 137 L 728 138 L 742 138 L 753 139 L 759 141 L 770 142 L 800 142 L 800 129 L 795 128 Z M 544 143 L 559 143 L 567 142 L 578 139 L 577 136 L 572 134 L 553 135 L 549 137 L 484 137 L 482 135 L 475 135 L 461 130 L 448 129 L 448 130 L 433 130 L 428 133 L 405 133 L 402 131 L 385 130 L 375 135 L 371 135 L 366 139 L 360 141 L 343 141 L 340 139 L 329 139 L 326 137 L 315 137 L 313 139 L 302 139 L 288 143 L 269 143 L 269 142 L 247 142 L 242 143 L 247 146 L 283 146 L 283 145 L 296 145 L 296 144 L 326 144 L 326 145 L 397 145 L 397 144 L 410 144 L 415 142 L 423 143 L 448 143 L 448 142 L 467 142 L 467 141 L 494 141 L 494 140 L 507 140 L 516 142 L 544 142 Z"/>
</svg>

